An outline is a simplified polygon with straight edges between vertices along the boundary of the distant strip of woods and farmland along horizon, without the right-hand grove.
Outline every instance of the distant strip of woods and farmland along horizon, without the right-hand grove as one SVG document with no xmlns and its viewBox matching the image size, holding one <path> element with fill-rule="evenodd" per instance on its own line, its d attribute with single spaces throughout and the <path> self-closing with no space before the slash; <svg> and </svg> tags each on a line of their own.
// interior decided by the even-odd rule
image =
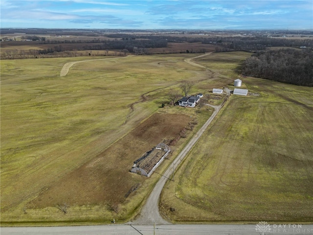
<svg viewBox="0 0 313 235">
<path fill-rule="evenodd" d="M 4 36 L 0 39 L 2 41 L 1 49 L 5 47 L 1 51 L 1 59 L 65 57 L 73 56 L 73 54 L 80 56 L 86 55 L 86 52 L 77 51 L 87 50 L 112 50 L 121 55 L 128 52 L 134 54 L 166 53 L 165 49 L 162 51 L 154 50 L 154 48 L 167 48 L 169 47 L 168 43 L 175 43 L 176 45 L 186 43 L 210 44 L 216 52 L 238 50 L 260 52 L 269 47 L 313 48 L 313 40 L 311 39 L 313 32 L 290 31 L 289 33 L 290 35 L 286 36 L 285 31 L 262 30 L 194 32 L 175 30 L 1 29 L 1 35 L 9 35 L 9 37 Z M 27 46 L 29 49 L 25 49 Z M 13 49 L 9 50 L 8 47 Z M 204 48 L 193 50 L 184 48 L 170 52 L 208 52 Z M 89 53 L 87 52 L 87 55 Z M 92 54 L 91 52 L 90 55 Z"/>
</svg>

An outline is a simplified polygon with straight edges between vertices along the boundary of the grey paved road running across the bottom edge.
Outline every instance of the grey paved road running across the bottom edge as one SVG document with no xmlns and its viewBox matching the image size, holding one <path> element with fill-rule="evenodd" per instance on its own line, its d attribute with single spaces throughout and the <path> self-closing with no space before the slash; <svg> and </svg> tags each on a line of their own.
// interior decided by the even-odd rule
<svg viewBox="0 0 313 235">
<path fill-rule="evenodd" d="M 293 228 L 295 226 L 295 228 Z M 275 228 L 276 227 L 276 228 Z M 264 235 L 313 235 L 313 225 L 270 225 Z M 299 228 L 300 227 L 300 228 Z M 0 228 L 1 235 L 262 235 L 246 225 L 99 225 Z"/>
</svg>

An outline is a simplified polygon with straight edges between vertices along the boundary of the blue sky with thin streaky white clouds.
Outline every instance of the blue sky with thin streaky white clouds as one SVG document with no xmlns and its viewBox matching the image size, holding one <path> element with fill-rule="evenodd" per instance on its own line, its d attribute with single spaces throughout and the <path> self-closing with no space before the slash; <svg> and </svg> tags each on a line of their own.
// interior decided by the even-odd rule
<svg viewBox="0 0 313 235">
<path fill-rule="evenodd" d="M 1 28 L 311 29 L 313 0 L 0 0 Z"/>
</svg>

